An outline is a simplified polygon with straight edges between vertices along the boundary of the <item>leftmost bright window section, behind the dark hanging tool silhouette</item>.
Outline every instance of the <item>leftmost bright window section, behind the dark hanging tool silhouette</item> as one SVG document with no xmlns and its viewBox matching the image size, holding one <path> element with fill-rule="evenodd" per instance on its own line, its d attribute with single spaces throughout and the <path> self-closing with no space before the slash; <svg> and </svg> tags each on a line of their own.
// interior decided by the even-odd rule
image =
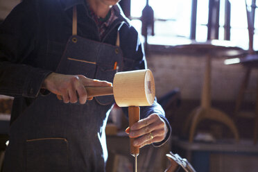
<svg viewBox="0 0 258 172">
<path fill-rule="evenodd" d="M 189 38 L 191 0 L 149 0 L 155 18 L 155 36 L 148 37 L 148 44 L 173 44 L 177 38 Z M 146 1 L 131 0 L 132 25 L 141 32 L 141 11 Z"/>
</svg>

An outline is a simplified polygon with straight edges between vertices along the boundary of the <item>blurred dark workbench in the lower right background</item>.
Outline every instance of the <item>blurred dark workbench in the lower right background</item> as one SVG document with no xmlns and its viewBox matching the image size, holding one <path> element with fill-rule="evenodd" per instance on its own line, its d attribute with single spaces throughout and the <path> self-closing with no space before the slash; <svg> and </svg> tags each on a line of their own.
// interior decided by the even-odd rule
<svg viewBox="0 0 258 172">
<path fill-rule="evenodd" d="M 198 172 L 256 172 L 258 169 L 258 145 L 252 140 L 189 143 L 173 137 L 171 142 L 173 153 L 186 157 Z"/>
</svg>

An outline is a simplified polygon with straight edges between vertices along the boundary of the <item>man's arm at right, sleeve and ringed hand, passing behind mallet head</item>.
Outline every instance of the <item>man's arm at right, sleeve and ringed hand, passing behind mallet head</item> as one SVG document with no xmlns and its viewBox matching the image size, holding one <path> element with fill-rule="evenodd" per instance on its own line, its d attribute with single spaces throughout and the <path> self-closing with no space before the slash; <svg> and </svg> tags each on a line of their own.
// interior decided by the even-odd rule
<svg viewBox="0 0 258 172">
<path fill-rule="evenodd" d="M 120 31 L 123 35 L 123 29 Z M 125 38 L 123 40 L 132 40 L 130 46 L 128 47 L 128 42 L 123 44 L 121 42 L 121 47 L 123 49 L 124 56 L 124 71 L 147 69 L 146 58 L 144 55 L 143 45 L 139 40 L 139 35 L 134 28 L 130 28 L 130 33 L 125 33 Z M 133 37 L 135 39 L 129 39 Z M 123 111 L 128 115 L 127 108 L 123 107 Z M 151 106 L 141 107 L 141 119 L 132 125 L 130 129 L 126 130 L 130 134 L 130 138 L 136 138 L 134 141 L 135 146 L 142 147 L 146 144 L 153 144 L 153 146 L 162 146 L 171 135 L 171 126 L 166 120 L 165 112 L 161 105 L 155 102 Z M 150 137 L 151 136 L 151 137 Z"/>
</svg>

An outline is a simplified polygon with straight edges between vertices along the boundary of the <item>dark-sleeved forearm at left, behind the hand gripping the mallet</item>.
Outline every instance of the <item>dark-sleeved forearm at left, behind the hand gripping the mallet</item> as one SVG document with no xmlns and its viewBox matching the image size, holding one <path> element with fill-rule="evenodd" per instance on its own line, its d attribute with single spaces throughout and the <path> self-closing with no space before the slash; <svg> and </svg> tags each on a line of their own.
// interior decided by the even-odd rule
<svg viewBox="0 0 258 172">
<path fill-rule="evenodd" d="M 51 71 L 12 62 L 0 62 L 0 94 L 35 98 Z"/>
</svg>

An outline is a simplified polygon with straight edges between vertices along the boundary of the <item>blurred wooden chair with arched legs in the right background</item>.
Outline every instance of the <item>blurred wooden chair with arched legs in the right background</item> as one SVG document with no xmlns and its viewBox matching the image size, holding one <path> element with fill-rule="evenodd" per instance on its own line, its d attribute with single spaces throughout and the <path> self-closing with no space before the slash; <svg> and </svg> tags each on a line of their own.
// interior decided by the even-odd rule
<svg viewBox="0 0 258 172">
<path fill-rule="evenodd" d="M 196 107 L 187 116 L 184 123 L 183 133 L 187 134 L 189 131 L 189 142 L 193 141 L 196 128 L 201 121 L 206 119 L 223 123 L 230 128 L 236 141 L 239 141 L 239 132 L 234 124 L 234 121 L 228 117 L 225 112 L 218 110 L 211 105 L 211 71 L 212 71 L 212 58 L 223 57 L 226 54 L 239 54 L 242 50 L 235 46 L 230 46 L 228 41 L 207 41 L 205 43 L 192 42 L 191 44 L 184 44 L 175 46 L 178 51 L 194 51 L 192 54 L 200 55 L 205 58 L 205 74 L 203 79 L 203 89 L 200 98 L 200 106 Z"/>
</svg>

